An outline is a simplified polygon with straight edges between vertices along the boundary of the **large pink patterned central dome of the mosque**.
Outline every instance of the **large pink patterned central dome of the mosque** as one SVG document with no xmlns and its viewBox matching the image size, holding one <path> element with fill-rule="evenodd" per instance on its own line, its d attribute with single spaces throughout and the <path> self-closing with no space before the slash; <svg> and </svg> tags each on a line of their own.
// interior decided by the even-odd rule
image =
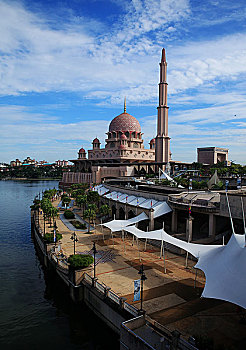
<svg viewBox="0 0 246 350">
<path fill-rule="evenodd" d="M 141 132 L 139 121 L 132 115 L 124 112 L 115 117 L 109 124 L 109 131 L 135 131 Z"/>
</svg>

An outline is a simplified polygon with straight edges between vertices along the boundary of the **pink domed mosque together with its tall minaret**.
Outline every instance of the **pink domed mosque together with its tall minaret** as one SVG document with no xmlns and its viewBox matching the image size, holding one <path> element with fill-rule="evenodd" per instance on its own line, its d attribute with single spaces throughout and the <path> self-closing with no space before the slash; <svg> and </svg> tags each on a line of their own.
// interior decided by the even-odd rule
<svg viewBox="0 0 246 350">
<path fill-rule="evenodd" d="M 101 148 L 98 138 L 93 140 L 88 157 L 85 149 L 81 148 L 78 158 L 71 160 L 75 165 L 75 172 L 64 173 L 62 183 L 101 183 L 106 178 L 152 174 L 159 167 L 165 169 L 170 164 L 174 165 L 168 136 L 167 86 L 166 53 L 162 49 L 157 135 L 150 140 L 149 148 L 144 148 L 139 121 L 126 112 L 125 99 L 124 112 L 116 116 L 109 125 L 105 148 Z"/>
</svg>

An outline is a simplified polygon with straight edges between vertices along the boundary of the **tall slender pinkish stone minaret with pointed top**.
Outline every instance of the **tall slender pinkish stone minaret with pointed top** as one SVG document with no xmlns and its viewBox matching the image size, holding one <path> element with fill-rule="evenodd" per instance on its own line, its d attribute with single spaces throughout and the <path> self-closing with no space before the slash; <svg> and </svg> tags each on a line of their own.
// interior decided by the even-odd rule
<svg viewBox="0 0 246 350">
<path fill-rule="evenodd" d="M 168 136 L 168 106 L 167 106 L 167 61 L 165 49 L 162 49 L 160 63 L 159 106 L 157 136 L 155 138 L 155 161 L 168 163 L 170 160 L 170 137 Z"/>
</svg>

